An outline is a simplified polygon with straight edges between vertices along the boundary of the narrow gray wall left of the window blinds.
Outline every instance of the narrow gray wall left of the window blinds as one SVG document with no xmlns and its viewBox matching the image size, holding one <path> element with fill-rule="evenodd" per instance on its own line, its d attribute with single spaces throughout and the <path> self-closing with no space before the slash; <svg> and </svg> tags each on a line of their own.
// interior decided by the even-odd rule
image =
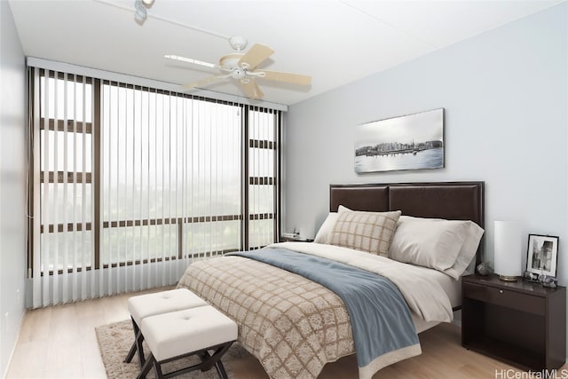
<svg viewBox="0 0 568 379">
<path fill-rule="evenodd" d="M 0 1 L 0 375 L 18 339 L 26 283 L 26 61 Z"/>
</svg>

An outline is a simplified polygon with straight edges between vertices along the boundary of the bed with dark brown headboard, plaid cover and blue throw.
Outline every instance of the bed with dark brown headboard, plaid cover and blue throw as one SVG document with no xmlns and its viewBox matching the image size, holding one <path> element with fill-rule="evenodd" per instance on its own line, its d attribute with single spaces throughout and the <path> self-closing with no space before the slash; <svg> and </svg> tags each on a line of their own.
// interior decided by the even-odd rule
<svg viewBox="0 0 568 379">
<path fill-rule="evenodd" d="M 370 378 L 382 367 L 420 354 L 414 336 L 452 320 L 461 305 L 460 276 L 481 261 L 483 182 L 332 185 L 329 211 L 312 243 L 283 242 L 194 262 L 178 283 L 237 322 L 238 343 L 272 378 L 316 378 L 328 362 L 355 351 L 359 378 Z M 383 224 L 369 229 L 369 219 Z M 357 228 L 373 237 L 361 237 Z M 369 254 L 367 247 L 379 254 Z M 431 249 L 436 253 L 424 254 Z M 326 273 L 328 265 L 343 271 L 334 277 Z M 393 294 L 369 289 L 355 295 L 334 288 L 349 287 L 361 272 L 361 280 L 382 280 L 369 286 Z M 345 284 L 335 283 L 339 279 Z M 352 287 L 367 288 L 367 282 Z M 387 299 L 370 298 L 369 292 Z M 364 308 L 362 316 L 353 311 L 358 307 Z M 370 342 L 362 343 L 361 335 L 371 336 Z M 370 355 L 369 343 L 375 345 Z"/>
</svg>

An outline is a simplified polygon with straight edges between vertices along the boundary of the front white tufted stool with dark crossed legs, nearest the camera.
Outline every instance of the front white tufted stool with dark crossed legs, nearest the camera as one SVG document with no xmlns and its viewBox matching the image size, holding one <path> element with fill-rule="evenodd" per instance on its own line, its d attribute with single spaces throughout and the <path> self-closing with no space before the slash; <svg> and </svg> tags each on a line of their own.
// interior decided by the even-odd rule
<svg viewBox="0 0 568 379">
<path fill-rule="evenodd" d="M 213 366 L 220 378 L 227 375 L 221 357 L 237 339 L 237 324 L 210 305 L 146 317 L 140 331 L 150 348 L 150 357 L 138 379 L 146 378 L 154 366 L 158 378 L 170 378 Z M 211 354 L 209 351 L 213 351 Z M 162 364 L 196 355 L 200 363 L 163 374 Z"/>
</svg>

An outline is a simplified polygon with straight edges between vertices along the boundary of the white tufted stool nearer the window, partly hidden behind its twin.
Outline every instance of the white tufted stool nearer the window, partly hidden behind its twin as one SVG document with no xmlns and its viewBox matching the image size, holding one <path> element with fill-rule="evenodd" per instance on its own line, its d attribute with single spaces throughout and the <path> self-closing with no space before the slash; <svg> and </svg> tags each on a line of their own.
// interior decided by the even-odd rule
<svg viewBox="0 0 568 379">
<path fill-rule="evenodd" d="M 144 349 L 142 348 L 144 336 L 140 334 L 139 325 L 146 317 L 205 305 L 209 304 L 186 288 L 130 297 L 128 299 L 128 311 L 130 312 L 132 328 L 134 329 L 134 343 L 132 343 L 132 347 L 130 347 L 130 351 L 124 361 L 130 363 L 134 354 L 138 351 L 140 367 L 144 365 Z"/>
</svg>

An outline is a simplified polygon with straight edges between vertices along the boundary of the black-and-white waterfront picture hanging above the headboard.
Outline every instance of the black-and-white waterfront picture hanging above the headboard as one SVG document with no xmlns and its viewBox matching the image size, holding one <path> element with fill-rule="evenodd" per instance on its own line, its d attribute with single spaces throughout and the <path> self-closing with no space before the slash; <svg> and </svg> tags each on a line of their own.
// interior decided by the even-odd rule
<svg viewBox="0 0 568 379">
<path fill-rule="evenodd" d="M 359 124 L 355 172 L 445 168 L 445 113 L 445 108 L 436 108 Z"/>
</svg>

